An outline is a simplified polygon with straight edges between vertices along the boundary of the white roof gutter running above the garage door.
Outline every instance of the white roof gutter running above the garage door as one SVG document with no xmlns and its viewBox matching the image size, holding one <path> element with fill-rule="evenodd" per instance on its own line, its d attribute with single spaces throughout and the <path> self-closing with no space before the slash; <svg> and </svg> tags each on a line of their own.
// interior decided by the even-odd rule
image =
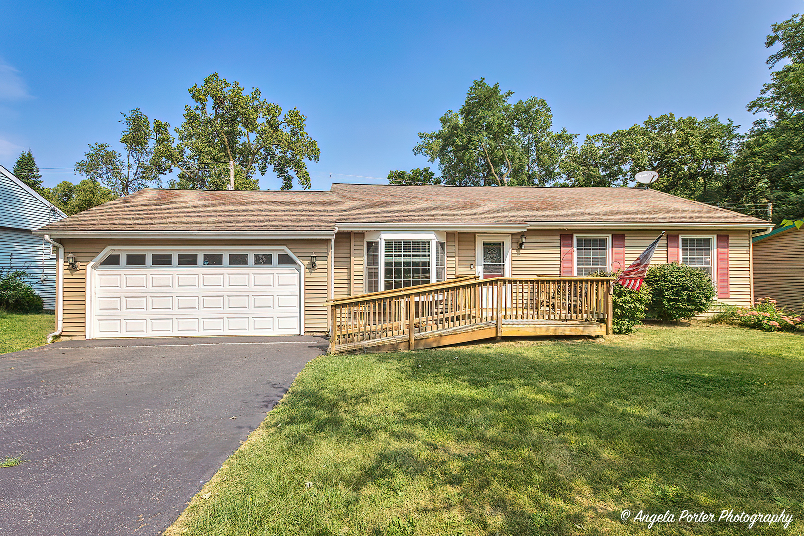
<svg viewBox="0 0 804 536">
<path fill-rule="evenodd" d="M 31 231 L 54 238 L 128 239 L 330 239 L 334 231 Z"/>
</svg>

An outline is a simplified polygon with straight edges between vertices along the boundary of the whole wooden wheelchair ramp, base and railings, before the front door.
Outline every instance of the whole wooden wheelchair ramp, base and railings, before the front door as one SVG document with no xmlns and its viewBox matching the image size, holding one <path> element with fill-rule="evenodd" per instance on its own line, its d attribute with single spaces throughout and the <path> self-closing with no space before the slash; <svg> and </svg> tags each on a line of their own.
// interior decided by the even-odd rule
<svg viewBox="0 0 804 536">
<path fill-rule="evenodd" d="M 464 277 L 330 301 L 330 353 L 611 333 L 613 280 Z"/>
</svg>

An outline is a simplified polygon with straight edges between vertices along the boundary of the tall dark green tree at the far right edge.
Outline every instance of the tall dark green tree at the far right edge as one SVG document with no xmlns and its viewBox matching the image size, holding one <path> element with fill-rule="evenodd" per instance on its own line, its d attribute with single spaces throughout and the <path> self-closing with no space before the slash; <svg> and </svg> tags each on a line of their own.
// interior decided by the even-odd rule
<svg viewBox="0 0 804 536">
<path fill-rule="evenodd" d="M 773 69 L 789 59 L 748 108 L 769 117 L 754 121 L 732 166 L 736 187 L 773 203 L 773 221 L 804 215 L 804 16 L 771 26 L 765 47 L 781 44 L 766 63 Z"/>
</svg>

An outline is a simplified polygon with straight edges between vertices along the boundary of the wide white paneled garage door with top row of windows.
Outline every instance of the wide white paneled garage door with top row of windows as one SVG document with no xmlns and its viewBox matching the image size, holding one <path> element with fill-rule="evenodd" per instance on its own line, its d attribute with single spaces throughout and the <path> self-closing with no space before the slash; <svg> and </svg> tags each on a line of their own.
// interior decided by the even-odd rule
<svg viewBox="0 0 804 536">
<path fill-rule="evenodd" d="M 297 334 L 285 252 L 114 252 L 92 270 L 92 338 Z"/>
</svg>

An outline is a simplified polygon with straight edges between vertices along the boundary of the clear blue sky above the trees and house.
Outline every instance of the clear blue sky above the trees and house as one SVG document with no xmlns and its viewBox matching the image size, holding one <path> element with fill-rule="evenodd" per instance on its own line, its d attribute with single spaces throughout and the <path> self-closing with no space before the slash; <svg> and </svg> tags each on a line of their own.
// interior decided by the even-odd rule
<svg viewBox="0 0 804 536">
<path fill-rule="evenodd" d="M 556 127 L 611 132 L 650 115 L 730 117 L 769 79 L 761 2 L 0 2 L 0 164 L 31 149 L 46 186 L 76 181 L 120 112 L 181 122 L 187 88 L 219 72 L 306 114 L 313 187 L 426 166 L 420 131 L 482 76 L 543 97 Z M 72 4 L 72 5 L 68 5 Z M 67 169 L 44 169 L 67 168 Z M 261 188 L 279 182 L 266 175 Z"/>
</svg>

